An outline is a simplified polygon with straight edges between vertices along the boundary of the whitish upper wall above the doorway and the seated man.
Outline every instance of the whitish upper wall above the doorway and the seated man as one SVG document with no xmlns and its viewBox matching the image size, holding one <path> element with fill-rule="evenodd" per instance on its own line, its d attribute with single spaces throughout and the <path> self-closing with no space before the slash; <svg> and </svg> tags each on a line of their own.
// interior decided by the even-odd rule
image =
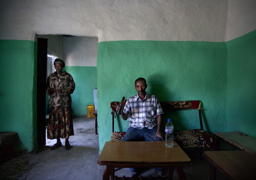
<svg viewBox="0 0 256 180">
<path fill-rule="evenodd" d="M 225 41 L 228 0 L 0 0 L 0 39 Z"/>
</svg>

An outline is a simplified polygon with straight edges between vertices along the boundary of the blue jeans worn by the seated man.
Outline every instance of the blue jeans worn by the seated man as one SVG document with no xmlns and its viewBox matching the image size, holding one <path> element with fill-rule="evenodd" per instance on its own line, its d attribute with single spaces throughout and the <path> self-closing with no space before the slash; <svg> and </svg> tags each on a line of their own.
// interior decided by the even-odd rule
<svg viewBox="0 0 256 180">
<path fill-rule="evenodd" d="M 125 136 L 121 141 L 163 141 L 160 137 L 155 139 L 157 128 L 128 128 Z M 162 170 L 162 168 L 155 168 L 156 171 Z M 130 168 L 131 172 L 136 172 L 134 168 Z"/>
</svg>

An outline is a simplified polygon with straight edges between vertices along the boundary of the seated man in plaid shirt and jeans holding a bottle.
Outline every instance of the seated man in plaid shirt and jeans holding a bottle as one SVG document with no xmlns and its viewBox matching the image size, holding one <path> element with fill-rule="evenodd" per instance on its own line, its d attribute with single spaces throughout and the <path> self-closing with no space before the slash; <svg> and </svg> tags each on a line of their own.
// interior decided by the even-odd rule
<svg viewBox="0 0 256 180">
<path fill-rule="evenodd" d="M 129 128 L 121 141 L 164 141 L 161 133 L 163 110 L 155 95 L 146 93 L 147 83 L 144 78 L 135 80 L 137 95 L 130 97 L 121 113 L 123 120 L 129 118 Z M 118 110 L 119 105 L 116 107 Z M 157 175 L 162 175 L 162 168 L 155 168 Z M 129 176 L 136 175 L 130 168 Z"/>
</svg>

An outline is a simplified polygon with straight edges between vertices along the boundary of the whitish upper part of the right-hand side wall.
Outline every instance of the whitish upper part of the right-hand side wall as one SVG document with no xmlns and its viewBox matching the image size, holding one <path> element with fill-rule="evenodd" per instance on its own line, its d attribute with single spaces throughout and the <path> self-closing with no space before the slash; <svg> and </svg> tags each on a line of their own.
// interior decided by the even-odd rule
<svg viewBox="0 0 256 180">
<path fill-rule="evenodd" d="M 255 29 L 256 1 L 229 0 L 226 40 L 232 40 Z"/>
</svg>

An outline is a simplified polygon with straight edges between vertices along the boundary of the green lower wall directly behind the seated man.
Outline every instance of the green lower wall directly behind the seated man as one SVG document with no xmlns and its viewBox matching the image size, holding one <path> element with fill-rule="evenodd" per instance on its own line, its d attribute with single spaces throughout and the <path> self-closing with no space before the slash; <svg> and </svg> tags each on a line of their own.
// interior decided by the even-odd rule
<svg viewBox="0 0 256 180">
<path fill-rule="evenodd" d="M 111 101 L 136 94 L 134 80 L 147 80 L 147 93 L 159 101 L 200 100 L 204 129 L 225 131 L 227 119 L 227 52 L 223 42 L 108 41 L 97 55 L 98 129 L 100 150 L 112 132 Z M 183 111 L 184 112 L 184 111 Z M 176 130 L 198 128 L 198 112 L 169 113 Z M 128 121 L 115 119 L 115 131 L 126 131 Z"/>
</svg>

